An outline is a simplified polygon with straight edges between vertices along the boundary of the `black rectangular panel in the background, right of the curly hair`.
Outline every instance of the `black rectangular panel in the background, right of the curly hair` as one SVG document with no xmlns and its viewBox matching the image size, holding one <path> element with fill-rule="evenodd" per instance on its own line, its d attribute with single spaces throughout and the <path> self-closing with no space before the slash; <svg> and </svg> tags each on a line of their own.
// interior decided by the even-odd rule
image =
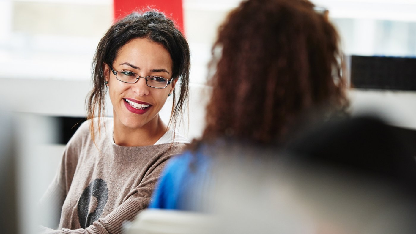
<svg viewBox="0 0 416 234">
<path fill-rule="evenodd" d="M 351 82 L 358 89 L 416 91 L 416 58 L 352 55 Z"/>
</svg>

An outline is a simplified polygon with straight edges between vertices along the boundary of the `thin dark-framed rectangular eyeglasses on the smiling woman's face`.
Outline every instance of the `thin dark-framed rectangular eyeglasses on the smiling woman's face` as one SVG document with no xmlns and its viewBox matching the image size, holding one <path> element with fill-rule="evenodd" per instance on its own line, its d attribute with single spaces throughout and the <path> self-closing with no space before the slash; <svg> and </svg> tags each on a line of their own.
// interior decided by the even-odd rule
<svg viewBox="0 0 416 234">
<path fill-rule="evenodd" d="M 116 75 L 116 78 L 124 83 L 133 84 L 136 83 L 140 78 L 144 78 L 146 79 L 147 86 L 156 89 L 164 89 L 168 86 L 168 84 L 171 84 L 172 82 L 172 79 L 168 80 L 161 76 L 139 76 L 138 74 L 128 70 L 114 71 L 112 67 L 110 67 L 110 69 L 113 74 Z"/>
</svg>

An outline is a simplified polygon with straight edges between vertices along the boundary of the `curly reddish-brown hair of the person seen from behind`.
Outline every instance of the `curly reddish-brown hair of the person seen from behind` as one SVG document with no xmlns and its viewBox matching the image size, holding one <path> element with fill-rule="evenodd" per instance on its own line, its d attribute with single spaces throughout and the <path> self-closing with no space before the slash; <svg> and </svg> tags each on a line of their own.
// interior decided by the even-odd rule
<svg viewBox="0 0 416 234">
<path fill-rule="evenodd" d="M 307 0 L 248 0 L 213 46 L 203 140 L 282 140 L 302 113 L 347 105 L 339 36 Z"/>
</svg>

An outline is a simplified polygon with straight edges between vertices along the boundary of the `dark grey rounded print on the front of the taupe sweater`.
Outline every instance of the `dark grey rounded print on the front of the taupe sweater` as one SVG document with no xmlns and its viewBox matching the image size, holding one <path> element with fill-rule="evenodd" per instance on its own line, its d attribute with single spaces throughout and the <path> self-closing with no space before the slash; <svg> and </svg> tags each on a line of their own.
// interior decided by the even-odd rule
<svg viewBox="0 0 416 234">
<path fill-rule="evenodd" d="M 93 198 L 94 197 L 94 198 Z M 93 180 L 78 200 L 78 218 L 81 228 L 89 227 L 101 216 L 107 203 L 107 184 L 102 179 Z M 93 201 L 92 201 L 93 199 Z M 96 200 L 95 200 L 96 199 Z"/>
</svg>

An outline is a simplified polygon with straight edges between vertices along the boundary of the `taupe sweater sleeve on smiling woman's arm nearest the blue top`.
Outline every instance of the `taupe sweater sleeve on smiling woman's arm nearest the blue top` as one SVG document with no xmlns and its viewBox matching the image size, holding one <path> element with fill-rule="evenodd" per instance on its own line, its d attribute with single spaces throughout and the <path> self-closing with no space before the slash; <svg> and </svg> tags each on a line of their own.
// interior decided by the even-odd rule
<svg viewBox="0 0 416 234">
<path fill-rule="evenodd" d="M 137 214 L 149 205 L 151 195 L 154 187 L 160 177 L 160 174 L 165 167 L 166 162 L 172 154 L 171 152 L 158 158 L 153 164 L 146 176 L 141 180 L 140 184 L 132 190 L 126 199 L 106 217 L 99 218 L 92 225 L 86 229 L 43 229 L 46 234 L 119 234 L 122 231 L 125 222 L 133 221 Z"/>
</svg>

